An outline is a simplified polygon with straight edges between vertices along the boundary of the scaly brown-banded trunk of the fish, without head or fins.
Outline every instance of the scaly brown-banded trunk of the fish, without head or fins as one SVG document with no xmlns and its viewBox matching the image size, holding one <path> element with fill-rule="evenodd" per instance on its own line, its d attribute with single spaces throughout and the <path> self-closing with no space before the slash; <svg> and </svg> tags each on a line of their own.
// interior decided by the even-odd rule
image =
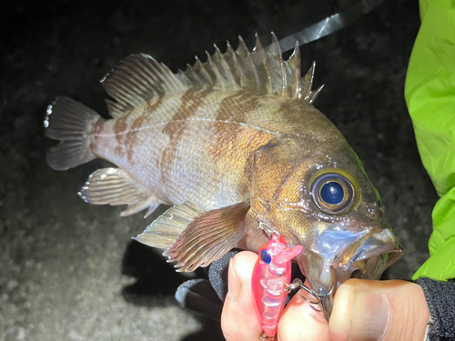
<svg viewBox="0 0 455 341">
<path fill-rule="evenodd" d="M 119 118 L 98 118 L 89 139 L 96 157 L 125 169 L 167 205 L 190 199 L 209 210 L 244 201 L 261 146 L 284 137 L 298 144 L 305 159 L 318 151 L 300 143 L 308 141 L 302 132 L 311 125 L 337 131 L 311 105 L 302 110 L 297 101 L 242 90 L 189 89 L 161 103 L 141 105 Z"/>
</svg>

